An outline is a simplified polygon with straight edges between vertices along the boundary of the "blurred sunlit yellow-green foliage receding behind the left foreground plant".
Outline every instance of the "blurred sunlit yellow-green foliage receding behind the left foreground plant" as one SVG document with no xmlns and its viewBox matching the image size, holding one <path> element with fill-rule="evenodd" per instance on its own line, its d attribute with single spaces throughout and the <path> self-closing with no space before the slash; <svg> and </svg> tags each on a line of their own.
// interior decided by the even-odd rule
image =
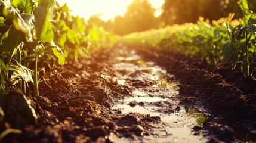
<svg viewBox="0 0 256 143">
<path fill-rule="evenodd" d="M 113 45 L 118 37 L 106 32 L 93 21 L 88 22 L 69 14 L 67 5 L 58 6 L 54 13 L 54 42 L 65 53 L 67 61 L 78 61 L 103 46 Z"/>
</svg>

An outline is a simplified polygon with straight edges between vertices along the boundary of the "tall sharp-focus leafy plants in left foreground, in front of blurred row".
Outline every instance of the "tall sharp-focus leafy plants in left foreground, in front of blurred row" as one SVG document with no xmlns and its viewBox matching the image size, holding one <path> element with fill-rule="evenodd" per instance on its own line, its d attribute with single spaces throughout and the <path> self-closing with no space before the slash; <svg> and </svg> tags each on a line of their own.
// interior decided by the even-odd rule
<svg viewBox="0 0 256 143">
<path fill-rule="evenodd" d="M 53 42 L 49 21 L 53 4 L 54 0 L 0 1 L 1 91 L 18 85 L 26 92 L 31 82 L 34 95 L 39 95 L 39 58 L 51 50 L 64 64 L 64 54 Z"/>
</svg>

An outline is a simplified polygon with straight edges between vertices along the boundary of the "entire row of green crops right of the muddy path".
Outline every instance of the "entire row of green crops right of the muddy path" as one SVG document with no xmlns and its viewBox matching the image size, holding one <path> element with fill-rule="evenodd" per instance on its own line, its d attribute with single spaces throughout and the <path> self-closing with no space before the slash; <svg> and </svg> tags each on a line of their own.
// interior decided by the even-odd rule
<svg viewBox="0 0 256 143">
<path fill-rule="evenodd" d="M 217 65 L 231 64 L 250 76 L 256 73 L 256 13 L 249 10 L 246 0 L 239 0 L 238 5 L 242 20 L 233 20 L 235 14 L 214 21 L 199 17 L 197 23 L 125 35 L 124 41 L 195 55 Z"/>
</svg>

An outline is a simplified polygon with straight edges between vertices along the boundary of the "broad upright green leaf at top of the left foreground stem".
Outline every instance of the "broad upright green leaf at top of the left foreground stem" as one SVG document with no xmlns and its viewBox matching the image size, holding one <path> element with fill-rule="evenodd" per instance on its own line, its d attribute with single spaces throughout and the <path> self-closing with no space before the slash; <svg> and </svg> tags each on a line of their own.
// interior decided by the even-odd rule
<svg viewBox="0 0 256 143">
<path fill-rule="evenodd" d="M 54 0 L 42 0 L 34 11 L 36 37 L 42 43 L 53 39 L 52 25 L 49 21 L 49 10 L 53 4 Z"/>
</svg>

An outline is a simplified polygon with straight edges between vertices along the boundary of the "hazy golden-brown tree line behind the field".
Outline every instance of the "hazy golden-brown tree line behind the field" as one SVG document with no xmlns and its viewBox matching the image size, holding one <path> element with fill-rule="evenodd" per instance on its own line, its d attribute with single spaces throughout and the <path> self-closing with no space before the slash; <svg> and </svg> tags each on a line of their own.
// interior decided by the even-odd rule
<svg viewBox="0 0 256 143">
<path fill-rule="evenodd" d="M 238 0 L 165 0 L 162 14 L 155 17 L 155 9 L 147 0 L 134 0 L 127 7 L 124 16 L 114 20 L 103 21 L 95 15 L 89 23 L 103 26 L 117 35 L 141 32 L 161 26 L 183 23 L 195 23 L 199 17 L 218 20 L 236 13 L 234 18 L 242 18 L 242 11 L 236 3 Z M 256 1 L 248 0 L 250 10 L 256 11 Z"/>
</svg>

